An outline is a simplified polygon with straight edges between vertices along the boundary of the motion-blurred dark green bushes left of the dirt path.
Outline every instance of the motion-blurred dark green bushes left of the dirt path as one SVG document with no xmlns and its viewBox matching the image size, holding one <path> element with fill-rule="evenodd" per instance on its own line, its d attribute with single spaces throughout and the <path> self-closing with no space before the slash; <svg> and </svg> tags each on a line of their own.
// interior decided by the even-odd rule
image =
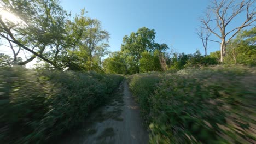
<svg viewBox="0 0 256 144">
<path fill-rule="evenodd" d="M 121 79 L 94 72 L 1 69 L 1 143 L 43 143 L 62 134 L 104 103 Z"/>
</svg>

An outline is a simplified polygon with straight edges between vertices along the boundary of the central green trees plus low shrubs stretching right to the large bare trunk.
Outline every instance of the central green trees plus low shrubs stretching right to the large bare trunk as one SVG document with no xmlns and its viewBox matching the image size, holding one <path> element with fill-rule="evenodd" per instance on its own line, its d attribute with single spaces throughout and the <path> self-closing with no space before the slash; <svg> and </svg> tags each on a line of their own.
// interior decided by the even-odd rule
<svg viewBox="0 0 256 144">
<path fill-rule="evenodd" d="M 193 55 L 175 53 L 167 44 L 155 43 L 154 38 L 154 29 L 146 27 L 125 35 L 121 51 L 110 53 L 104 60 L 104 71 L 114 74 L 136 74 L 218 64 L 216 57 L 202 56 L 199 50 Z"/>
</svg>

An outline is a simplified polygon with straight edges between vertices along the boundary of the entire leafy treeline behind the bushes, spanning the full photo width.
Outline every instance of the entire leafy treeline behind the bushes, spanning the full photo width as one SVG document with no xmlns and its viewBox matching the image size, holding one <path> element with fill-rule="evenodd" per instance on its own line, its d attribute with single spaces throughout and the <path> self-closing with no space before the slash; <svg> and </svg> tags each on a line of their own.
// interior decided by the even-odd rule
<svg viewBox="0 0 256 144">
<path fill-rule="evenodd" d="M 224 41 L 222 51 L 225 55 L 220 51 L 210 55 L 201 55 L 199 51 L 177 53 L 165 43 L 156 43 L 154 29 L 146 27 L 125 35 L 121 50 L 110 53 L 110 34 L 100 21 L 86 16 L 84 9 L 71 19 L 71 14 L 54 0 L 0 3 L 3 11 L 19 19 L 0 19 L 0 38 L 13 52 L 13 56 L 0 53 L 2 66 L 26 65 L 37 57 L 37 69 L 135 74 L 199 65 L 256 63 L 255 27 L 245 31 L 239 29 L 236 38 Z M 22 53 L 26 53 L 26 59 L 21 58 Z M 103 60 L 107 55 L 109 57 Z"/>
</svg>

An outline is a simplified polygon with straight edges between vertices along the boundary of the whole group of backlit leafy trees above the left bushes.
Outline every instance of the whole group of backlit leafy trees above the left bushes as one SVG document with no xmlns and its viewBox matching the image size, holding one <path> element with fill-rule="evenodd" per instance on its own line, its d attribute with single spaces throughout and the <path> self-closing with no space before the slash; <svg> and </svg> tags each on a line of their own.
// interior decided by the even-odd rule
<svg viewBox="0 0 256 144">
<path fill-rule="evenodd" d="M 37 57 L 37 69 L 102 71 L 110 34 L 84 9 L 71 19 L 55 0 L 1 1 L 0 8 L 17 18 L 0 17 L 0 39 L 13 52 L 1 54 L 0 65 L 26 65 Z"/>
</svg>

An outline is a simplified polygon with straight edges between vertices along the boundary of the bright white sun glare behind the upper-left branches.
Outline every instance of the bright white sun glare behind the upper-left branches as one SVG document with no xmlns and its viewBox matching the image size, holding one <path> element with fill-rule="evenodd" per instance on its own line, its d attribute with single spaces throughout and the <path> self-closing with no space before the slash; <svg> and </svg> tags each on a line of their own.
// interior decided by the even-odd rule
<svg viewBox="0 0 256 144">
<path fill-rule="evenodd" d="M 19 24 L 23 22 L 21 19 L 19 19 L 19 17 L 5 10 L 0 10 L 0 16 L 2 17 L 3 22 L 12 22 L 15 24 Z"/>
</svg>

